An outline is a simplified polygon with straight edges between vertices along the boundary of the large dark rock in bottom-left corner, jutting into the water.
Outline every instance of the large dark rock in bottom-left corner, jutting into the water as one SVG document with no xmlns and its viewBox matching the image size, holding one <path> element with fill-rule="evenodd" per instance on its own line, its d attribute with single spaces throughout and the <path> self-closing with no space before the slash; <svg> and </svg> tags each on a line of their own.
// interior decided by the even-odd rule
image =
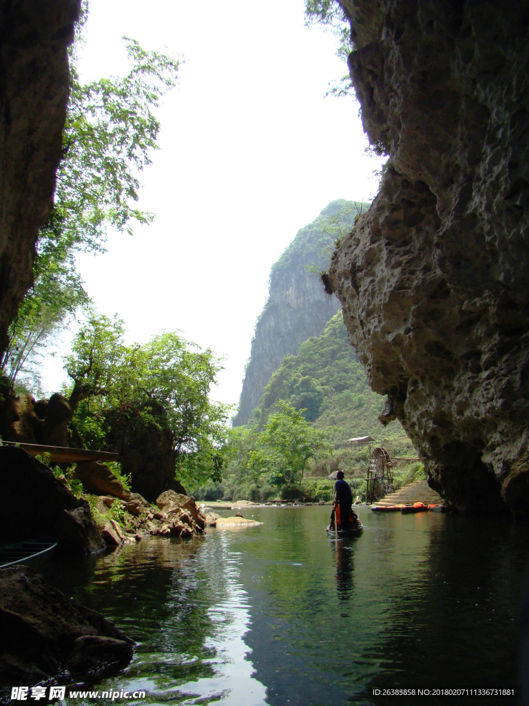
<svg viewBox="0 0 529 706">
<path fill-rule="evenodd" d="M 0 570 L 0 693 L 16 684 L 95 679 L 130 662 L 133 641 L 27 566 Z"/>
</svg>

